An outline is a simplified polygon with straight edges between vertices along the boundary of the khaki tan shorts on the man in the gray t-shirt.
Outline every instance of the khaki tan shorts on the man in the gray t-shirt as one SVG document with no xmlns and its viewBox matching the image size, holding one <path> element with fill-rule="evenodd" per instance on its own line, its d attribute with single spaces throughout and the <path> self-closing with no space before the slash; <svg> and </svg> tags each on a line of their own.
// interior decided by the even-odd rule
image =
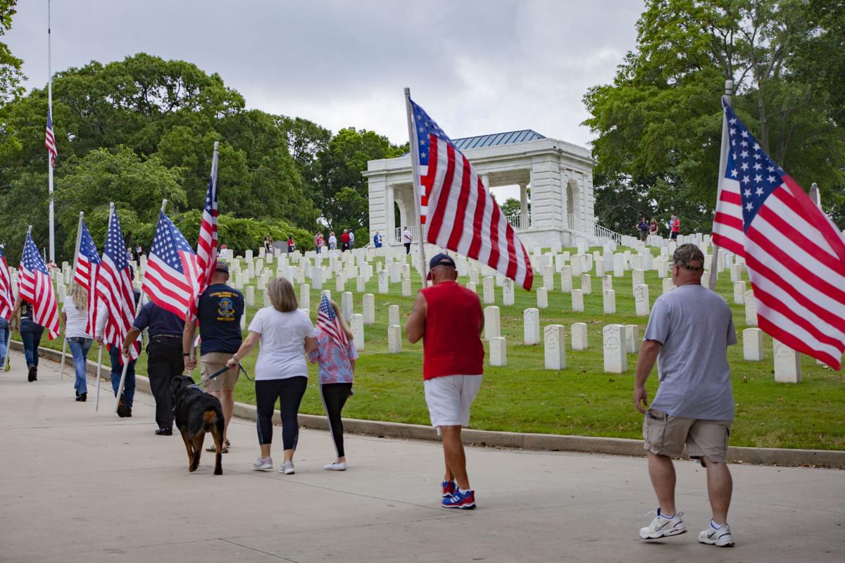
<svg viewBox="0 0 845 563">
<path fill-rule="evenodd" d="M 669 416 L 659 410 L 646 412 L 642 423 L 645 447 L 657 455 L 679 457 L 687 447 L 687 454 L 705 465 L 706 460 L 724 463 L 728 455 L 730 420 L 696 420 Z"/>
</svg>

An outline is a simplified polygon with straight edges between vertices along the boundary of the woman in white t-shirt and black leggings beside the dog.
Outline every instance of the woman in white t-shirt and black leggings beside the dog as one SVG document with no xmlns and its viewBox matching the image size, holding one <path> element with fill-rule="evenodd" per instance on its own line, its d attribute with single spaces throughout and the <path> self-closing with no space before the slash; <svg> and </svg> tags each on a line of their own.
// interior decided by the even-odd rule
<svg viewBox="0 0 845 563">
<path fill-rule="evenodd" d="M 299 309 L 297 294 L 284 278 L 270 280 L 267 296 L 272 306 L 259 309 L 249 323 L 249 334 L 228 365 L 237 365 L 255 344 L 261 343 L 255 362 L 255 410 L 258 414 L 261 455 L 253 466 L 259 471 L 273 469 L 270 445 L 273 441 L 273 409 L 279 400 L 281 441 L 285 462 L 279 473 L 294 472 L 293 452 L 297 449 L 299 403 L 308 387 L 305 355 L 317 348 L 317 330 L 308 313 Z"/>
</svg>

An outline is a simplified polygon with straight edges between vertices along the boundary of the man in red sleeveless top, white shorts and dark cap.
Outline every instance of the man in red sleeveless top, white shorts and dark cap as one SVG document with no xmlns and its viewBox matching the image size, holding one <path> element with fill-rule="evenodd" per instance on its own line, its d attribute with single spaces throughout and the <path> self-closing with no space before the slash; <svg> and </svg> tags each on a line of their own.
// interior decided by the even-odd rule
<svg viewBox="0 0 845 563">
<path fill-rule="evenodd" d="M 443 438 L 446 474 L 442 505 L 475 508 L 475 491 L 466 475 L 461 427 L 481 387 L 484 316 L 475 291 L 458 284 L 455 261 L 438 254 L 428 264 L 431 287 L 417 293 L 405 331 L 413 344 L 423 338 L 423 384 L 431 425 Z"/>
</svg>

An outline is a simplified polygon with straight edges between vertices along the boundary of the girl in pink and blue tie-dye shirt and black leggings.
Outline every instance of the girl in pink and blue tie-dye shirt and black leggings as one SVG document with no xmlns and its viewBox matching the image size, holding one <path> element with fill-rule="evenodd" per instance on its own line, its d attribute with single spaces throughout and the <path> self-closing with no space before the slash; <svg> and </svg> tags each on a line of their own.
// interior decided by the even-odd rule
<svg viewBox="0 0 845 563">
<path fill-rule="evenodd" d="M 319 362 L 319 388 L 323 398 L 323 409 L 329 418 L 329 430 L 335 441 L 337 460 L 324 465 L 327 471 L 345 471 L 346 453 L 343 451 L 343 421 L 341 411 L 346 399 L 352 395 L 352 379 L 355 373 L 355 360 L 358 353 L 352 342 L 352 331 L 343 320 L 340 308 L 335 301 L 329 301 L 335 315 L 346 333 L 346 346 L 337 344 L 322 328 L 317 331 L 317 349 L 308 353 L 312 364 Z"/>
</svg>

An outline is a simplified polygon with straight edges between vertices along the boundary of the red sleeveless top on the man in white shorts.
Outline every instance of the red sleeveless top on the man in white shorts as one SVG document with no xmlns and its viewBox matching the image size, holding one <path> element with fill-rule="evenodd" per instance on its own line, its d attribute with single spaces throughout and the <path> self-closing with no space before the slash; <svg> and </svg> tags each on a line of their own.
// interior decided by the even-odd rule
<svg viewBox="0 0 845 563">
<path fill-rule="evenodd" d="M 481 303 L 475 291 L 456 282 L 425 288 L 423 379 L 484 373 Z"/>
</svg>

